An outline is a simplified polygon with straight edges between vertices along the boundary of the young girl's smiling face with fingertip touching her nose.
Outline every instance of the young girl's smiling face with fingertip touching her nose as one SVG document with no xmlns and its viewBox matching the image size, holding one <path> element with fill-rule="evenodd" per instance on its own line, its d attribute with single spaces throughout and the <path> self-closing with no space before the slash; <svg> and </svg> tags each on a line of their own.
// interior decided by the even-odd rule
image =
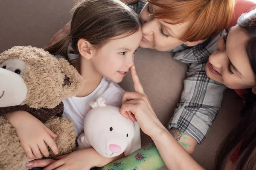
<svg viewBox="0 0 256 170">
<path fill-rule="evenodd" d="M 134 65 L 134 52 L 139 48 L 142 31 L 120 37 L 114 37 L 92 57 L 95 71 L 117 83 L 122 81 Z"/>
</svg>

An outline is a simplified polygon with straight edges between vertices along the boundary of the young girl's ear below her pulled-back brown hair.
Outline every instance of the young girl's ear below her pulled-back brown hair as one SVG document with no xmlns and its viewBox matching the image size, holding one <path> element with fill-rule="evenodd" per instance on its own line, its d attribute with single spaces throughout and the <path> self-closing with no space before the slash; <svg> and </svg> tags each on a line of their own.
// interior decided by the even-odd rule
<svg viewBox="0 0 256 170">
<path fill-rule="evenodd" d="M 90 42 L 84 39 L 80 39 L 77 42 L 77 48 L 78 48 L 79 54 L 86 59 L 92 58 L 90 47 L 91 47 Z"/>
</svg>

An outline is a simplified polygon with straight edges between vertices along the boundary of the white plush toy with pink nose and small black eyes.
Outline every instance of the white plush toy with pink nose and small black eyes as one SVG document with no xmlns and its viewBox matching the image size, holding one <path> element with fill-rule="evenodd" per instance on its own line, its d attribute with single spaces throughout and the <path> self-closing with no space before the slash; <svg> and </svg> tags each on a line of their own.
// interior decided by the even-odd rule
<svg viewBox="0 0 256 170">
<path fill-rule="evenodd" d="M 141 147 L 137 122 L 123 117 L 119 108 L 106 105 L 102 97 L 89 105 L 92 109 L 84 118 L 84 133 L 77 139 L 77 150 L 93 147 L 110 158 L 123 152 L 126 156 Z"/>
</svg>

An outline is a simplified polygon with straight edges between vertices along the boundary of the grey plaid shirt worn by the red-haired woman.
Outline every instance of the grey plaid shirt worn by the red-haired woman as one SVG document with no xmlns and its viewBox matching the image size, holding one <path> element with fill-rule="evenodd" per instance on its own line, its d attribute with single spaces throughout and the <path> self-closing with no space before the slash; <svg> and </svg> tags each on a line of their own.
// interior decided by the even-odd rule
<svg viewBox="0 0 256 170">
<path fill-rule="evenodd" d="M 140 0 L 132 4 L 131 8 L 139 14 L 146 3 L 145 0 Z M 175 52 L 173 58 L 187 63 L 189 70 L 184 80 L 181 100 L 168 124 L 168 130 L 177 128 L 195 138 L 199 144 L 204 141 L 221 108 L 223 92 L 226 89 L 224 85 L 209 79 L 205 73 L 208 58 L 216 51 L 216 42 L 224 33 L 225 31 L 222 31 L 218 36 L 193 47 L 180 45 L 172 50 Z M 73 60 L 78 57 L 78 54 L 73 53 L 70 44 L 68 58 Z"/>
</svg>

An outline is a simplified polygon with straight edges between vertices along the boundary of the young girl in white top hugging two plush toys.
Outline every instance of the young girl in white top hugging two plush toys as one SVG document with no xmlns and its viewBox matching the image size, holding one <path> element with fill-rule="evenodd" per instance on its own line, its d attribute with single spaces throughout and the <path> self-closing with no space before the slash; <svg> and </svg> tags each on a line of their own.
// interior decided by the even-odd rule
<svg viewBox="0 0 256 170">
<path fill-rule="evenodd" d="M 131 8 L 119 0 L 84 0 L 74 11 L 69 36 L 46 49 L 68 61 L 79 56 L 70 64 L 84 77 L 83 88 L 76 97 L 63 100 L 63 115 L 74 122 L 78 135 L 83 132 L 88 102 L 102 96 L 109 105 L 121 107 L 124 91 L 117 83 L 134 65 L 134 52 L 141 39 L 140 18 Z M 6 118 L 16 128 L 27 156 L 38 159 L 42 158 L 41 153 L 49 156 L 44 142 L 55 154 L 58 153 L 51 138 L 56 135 L 32 115 L 14 112 L 7 114 Z M 20 125 L 15 121 L 17 119 L 27 122 L 26 125 Z M 140 143 L 136 145 L 132 150 L 140 148 Z M 117 158 L 104 158 L 91 148 L 75 151 L 46 169 L 88 170 L 114 159 Z M 34 167 L 32 165 L 32 162 L 26 164 L 27 167 Z"/>
</svg>

